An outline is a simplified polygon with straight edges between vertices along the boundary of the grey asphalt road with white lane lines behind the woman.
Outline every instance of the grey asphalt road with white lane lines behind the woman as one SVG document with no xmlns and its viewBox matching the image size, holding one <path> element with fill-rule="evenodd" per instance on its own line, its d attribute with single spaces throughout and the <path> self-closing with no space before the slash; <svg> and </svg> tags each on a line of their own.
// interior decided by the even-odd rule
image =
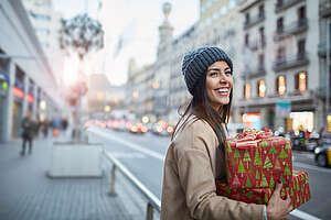
<svg viewBox="0 0 331 220">
<path fill-rule="evenodd" d="M 170 138 L 143 135 L 90 128 L 89 141 L 102 142 L 158 198 L 161 194 L 162 167 Z M 293 152 L 293 169 L 307 170 L 311 199 L 299 207 L 290 219 L 331 219 L 331 169 L 318 167 L 313 154 Z M 310 216 L 307 216 L 310 215 Z"/>
</svg>

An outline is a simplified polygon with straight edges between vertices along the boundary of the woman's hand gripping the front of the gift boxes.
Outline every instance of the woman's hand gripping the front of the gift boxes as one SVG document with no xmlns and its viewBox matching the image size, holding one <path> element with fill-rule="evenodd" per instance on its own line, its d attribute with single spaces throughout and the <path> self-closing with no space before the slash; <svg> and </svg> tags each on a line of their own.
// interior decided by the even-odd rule
<svg viewBox="0 0 331 220">
<path fill-rule="evenodd" d="M 280 190 L 282 183 L 279 180 L 276 183 L 276 189 L 267 206 L 268 220 L 284 219 L 293 209 L 291 205 L 291 198 L 287 195 L 286 200 L 280 198 Z"/>
</svg>

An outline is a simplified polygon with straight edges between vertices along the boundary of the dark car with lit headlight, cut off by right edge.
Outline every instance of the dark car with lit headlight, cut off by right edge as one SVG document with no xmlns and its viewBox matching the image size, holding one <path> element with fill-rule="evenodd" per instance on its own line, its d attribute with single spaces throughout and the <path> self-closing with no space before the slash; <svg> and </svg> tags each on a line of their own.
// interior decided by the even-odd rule
<svg viewBox="0 0 331 220">
<path fill-rule="evenodd" d="M 319 166 L 331 166 L 331 139 L 324 139 L 314 148 L 314 161 Z"/>
</svg>

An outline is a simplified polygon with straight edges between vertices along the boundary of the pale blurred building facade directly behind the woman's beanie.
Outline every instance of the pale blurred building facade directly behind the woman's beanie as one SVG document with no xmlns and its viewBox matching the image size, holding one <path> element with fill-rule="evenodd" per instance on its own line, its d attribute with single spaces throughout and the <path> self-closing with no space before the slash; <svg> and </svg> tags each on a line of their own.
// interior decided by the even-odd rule
<svg viewBox="0 0 331 220">
<path fill-rule="evenodd" d="M 233 59 L 234 78 L 238 77 L 239 45 L 238 9 L 236 1 L 201 0 L 200 20 L 182 35 L 172 41 L 172 59 L 169 89 L 169 107 L 171 117 L 178 114 L 178 108 L 191 98 L 188 92 L 181 65 L 183 55 L 200 46 L 214 45 L 223 48 Z M 237 94 L 234 94 L 234 105 Z M 234 111 L 235 112 L 235 111 Z M 234 118 L 234 117 L 232 117 Z"/>
</svg>

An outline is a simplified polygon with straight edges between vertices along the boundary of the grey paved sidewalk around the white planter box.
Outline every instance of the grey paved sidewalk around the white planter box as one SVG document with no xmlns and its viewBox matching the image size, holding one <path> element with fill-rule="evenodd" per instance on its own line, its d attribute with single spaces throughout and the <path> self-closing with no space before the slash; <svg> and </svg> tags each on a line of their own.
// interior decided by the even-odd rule
<svg viewBox="0 0 331 220">
<path fill-rule="evenodd" d="M 117 174 L 117 197 L 109 197 L 110 166 L 103 178 L 50 179 L 53 141 L 38 139 L 32 154 L 20 155 L 21 140 L 0 144 L 0 220 L 142 220 L 146 202 Z"/>
</svg>

